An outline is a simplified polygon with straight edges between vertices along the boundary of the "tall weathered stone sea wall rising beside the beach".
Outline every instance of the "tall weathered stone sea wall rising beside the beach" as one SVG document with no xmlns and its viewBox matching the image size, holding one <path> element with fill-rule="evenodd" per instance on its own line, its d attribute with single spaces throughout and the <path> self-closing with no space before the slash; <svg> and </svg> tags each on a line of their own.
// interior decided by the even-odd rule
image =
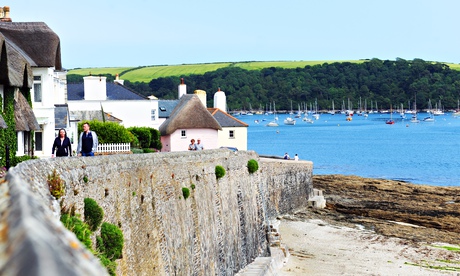
<svg viewBox="0 0 460 276">
<path fill-rule="evenodd" d="M 250 159 L 259 161 L 254 174 Z M 216 165 L 226 169 L 218 180 Z M 311 162 L 228 150 L 32 160 L 11 169 L 16 185 L 28 186 L 56 219 L 59 206 L 46 186 L 53 169 L 66 182 L 64 205 L 83 214 L 83 199 L 93 198 L 104 221 L 120 226 L 119 275 L 235 274 L 269 255 L 268 220 L 306 206 L 313 190 Z"/>
</svg>

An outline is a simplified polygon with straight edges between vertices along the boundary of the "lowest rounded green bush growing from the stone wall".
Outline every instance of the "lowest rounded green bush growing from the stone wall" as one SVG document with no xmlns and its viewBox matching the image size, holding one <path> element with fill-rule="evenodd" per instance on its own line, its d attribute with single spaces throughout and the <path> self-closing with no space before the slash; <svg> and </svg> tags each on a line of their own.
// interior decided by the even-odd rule
<svg viewBox="0 0 460 276">
<path fill-rule="evenodd" d="M 104 248 L 104 255 L 109 260 L 120 259 L 123 251 L 123 232 L 116 225 L 104 222 L 101 226 L 101 239 Z M 99 247 L 99 251 L 102 247 Z"/>
</svg>

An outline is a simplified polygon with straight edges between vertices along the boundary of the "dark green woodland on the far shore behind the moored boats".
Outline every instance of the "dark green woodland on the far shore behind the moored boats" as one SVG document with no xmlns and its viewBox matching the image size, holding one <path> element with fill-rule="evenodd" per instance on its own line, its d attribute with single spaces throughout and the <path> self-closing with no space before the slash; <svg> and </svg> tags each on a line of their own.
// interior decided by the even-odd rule
<svg viewBox="0 0 460 276">
<path fill-rule="evenodd" d="M 180 78 L 157 78 L 149 83 L 125 81 L 125 85 L 145 96 L 176 99 Z M 348 101 L 357 109 L 360 99 L 362 103 L 367 101 L 368 109 L 371 101 L 384 109 L 396 109 L 401 104 L 412 108 L 408 105 L 416 101 L 417 108 L 424 109 L 429 100 L 441 102 L 445 109 L 456 109 L 460 98 L 460 71 L 422 59 L 371 59 L 295 69 L 226 67 L 184 79 L 187 93 L 198 89 L 207 92 L 208 106 L 212 106 L 214 92 L 220 88 L 227 96 L 230 110 L 266 109 L 273 102 L 277 110 L 289 110 L 291 103 L 297 109 L 298 105 L 312 102 L 317 102 L 318 109 L 331 109 L 332 101 L 336 109 Z"/>
</svg>

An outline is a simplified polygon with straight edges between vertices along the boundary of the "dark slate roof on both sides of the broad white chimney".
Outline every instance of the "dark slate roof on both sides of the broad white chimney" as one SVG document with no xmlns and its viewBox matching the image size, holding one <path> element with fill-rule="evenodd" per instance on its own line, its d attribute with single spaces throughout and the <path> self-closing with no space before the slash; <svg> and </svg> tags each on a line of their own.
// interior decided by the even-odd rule
<svg viewBox="0 0 460 276">
<path fill-rule="evenodd" d="M 147 97 L 137 94 L 128 87 L 119 83 L 108 82 L 107 87 L 107 100 L 146 100 Z M 85 99 L 84 84 L 81 83 L 68 83 L 67 84 L 67 99 L 69 101 L 83 101 Z"/>
</svg>

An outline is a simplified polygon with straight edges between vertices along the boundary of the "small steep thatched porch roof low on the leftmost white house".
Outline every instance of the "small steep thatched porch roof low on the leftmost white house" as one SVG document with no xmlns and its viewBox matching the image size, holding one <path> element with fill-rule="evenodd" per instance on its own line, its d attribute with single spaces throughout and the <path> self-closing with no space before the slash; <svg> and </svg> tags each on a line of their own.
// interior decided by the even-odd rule
<svg viewBox="0 0 460 276">
<path fill-rule="evenodd" d="M 30 107 L 24 95 L 19 89 L 14 92 L 14 120 L 16 131 L 40 130 L 40 125 L 35 118 L 32 107 Z"/>
</svg>

